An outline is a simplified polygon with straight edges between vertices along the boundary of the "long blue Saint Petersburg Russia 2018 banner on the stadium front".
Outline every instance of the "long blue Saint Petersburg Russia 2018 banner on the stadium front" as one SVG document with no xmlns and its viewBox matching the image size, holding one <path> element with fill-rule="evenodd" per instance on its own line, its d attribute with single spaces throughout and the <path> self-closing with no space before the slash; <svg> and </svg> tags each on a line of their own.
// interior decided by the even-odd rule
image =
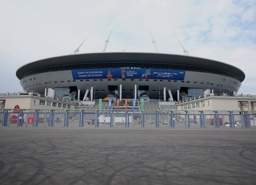
<svg viewBox="0 0 256 185">
<path fill-rule="evenodd" d="M 184 80 L 186 71 L 157 69 L 84 69 L 71 70 L 77 79 L 163 79 Z"/>
</svg>

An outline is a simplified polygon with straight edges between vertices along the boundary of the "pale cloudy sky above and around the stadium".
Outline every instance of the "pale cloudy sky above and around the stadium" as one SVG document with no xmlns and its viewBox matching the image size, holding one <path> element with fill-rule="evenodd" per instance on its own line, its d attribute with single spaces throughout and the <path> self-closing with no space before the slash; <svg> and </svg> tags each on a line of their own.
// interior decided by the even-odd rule
<svg viewBox="0 0 256 185">
<path fill-rule="evenodd" d="M 113 28 L 112 32 L 111 29 Z M 152 32 L 152 35 L 150 33 Z M 228 63 L 256 95 L 255 0 L 0 0 L 0 93 L 22 92 L 16 70 L 72 53 L 158 52 Z"/>
</svg>

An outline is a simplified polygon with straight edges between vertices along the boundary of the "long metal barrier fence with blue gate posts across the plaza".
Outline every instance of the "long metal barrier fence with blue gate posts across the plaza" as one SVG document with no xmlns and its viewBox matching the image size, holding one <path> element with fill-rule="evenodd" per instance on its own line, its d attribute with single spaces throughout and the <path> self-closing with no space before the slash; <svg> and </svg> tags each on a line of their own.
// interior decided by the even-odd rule
<svg viewBox="0 0 256 185">
<path fill-rule="evenodd" d="M 255 111 L 0 110 L 3 127 L 251 128 Z"/>
</svg>

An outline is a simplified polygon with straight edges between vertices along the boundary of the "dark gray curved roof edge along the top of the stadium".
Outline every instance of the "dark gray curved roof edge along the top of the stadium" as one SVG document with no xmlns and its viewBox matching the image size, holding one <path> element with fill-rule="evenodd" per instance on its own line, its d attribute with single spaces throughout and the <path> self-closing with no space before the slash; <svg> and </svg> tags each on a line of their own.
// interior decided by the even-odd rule
<svg viewBox="0 0 256 185">
<path fill-rule="evenodd" d="M 242 70 L 224 62 L 195 56 L 150 52 L 104 52 L 54 56 L 27 63 L 21 66 L 16 71 L 16 76 L 18 77 L 18 79 L 22 79 L 27 72 L 36 69 L 59 65 L 81 64 L 85 63 L 86 61 L 88 61 L 89 63 L 121 63 L 129 61 L 145 63 L 173 63 L 176 65 L 199 66 L 229 72 L 235 75 L 240 82 L 245 79 L 245 73 Z"/>
</svg>

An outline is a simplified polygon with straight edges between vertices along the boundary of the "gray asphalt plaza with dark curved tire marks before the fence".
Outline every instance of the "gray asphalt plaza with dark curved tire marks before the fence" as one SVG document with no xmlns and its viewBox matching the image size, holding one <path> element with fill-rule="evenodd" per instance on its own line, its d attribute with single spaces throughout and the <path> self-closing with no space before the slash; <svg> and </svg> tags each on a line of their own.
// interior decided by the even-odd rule
<svg viewBox="0 0 256 185">
<path fill-rule="evenodd" d="M 256 128 L 0 127 L 1 185 L 256 184 Z"/>
</svg>

